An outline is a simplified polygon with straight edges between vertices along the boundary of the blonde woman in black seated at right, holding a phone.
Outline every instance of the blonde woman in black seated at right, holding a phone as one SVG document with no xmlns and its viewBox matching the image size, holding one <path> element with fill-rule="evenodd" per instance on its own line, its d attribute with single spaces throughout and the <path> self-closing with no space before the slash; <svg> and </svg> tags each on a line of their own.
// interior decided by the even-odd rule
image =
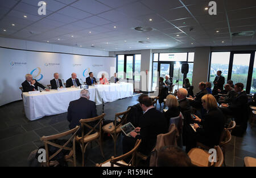
<svg viewBox="0 0 256 178">
<path fill-rule="evenodd" d="M 195 116 L 196 118 L 194 121 L 203 125 L 203 128 L 196 123 L 194 124 L 193 127 L 196 129 L 196 133 L 194 134 L 194 137 L 190 139 L 193 142 L 190 143 L 191 145 L 187 145 L 188 148 L 186 148 L 186 151 L 196 147 L 196 142 L 203 143 L 209 147 L 218 145 L 221 133 L 224 130 L 224 115 L 218 108 L 214 96 L 207 94 L 204 95 L 201 100 L 203 108 L 207 110 L 207 114 L 204 116 L 204 119 Z"/>
</svg>

